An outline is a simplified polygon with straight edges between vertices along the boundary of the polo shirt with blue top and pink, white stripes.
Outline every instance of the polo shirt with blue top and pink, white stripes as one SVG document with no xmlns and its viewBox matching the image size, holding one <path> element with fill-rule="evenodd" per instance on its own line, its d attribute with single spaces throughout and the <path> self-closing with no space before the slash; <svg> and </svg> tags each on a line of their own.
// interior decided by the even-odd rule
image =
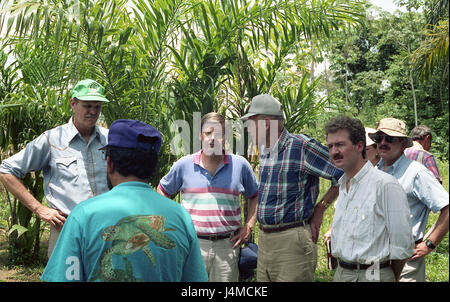
<svg viewBox="0 0 450 302">
<path fill-rule="evenodd" d="M 225 234 L 241 225 L 239 195 L 253 198 L 258 184 L 248 161 L 225 154 L 214 175 L 200 165 L 202 150 L 179 159 L 159 188 L 168 195 L 181 191 L 181 204 L 191 214 L 198 235 Z"/>
</svg>

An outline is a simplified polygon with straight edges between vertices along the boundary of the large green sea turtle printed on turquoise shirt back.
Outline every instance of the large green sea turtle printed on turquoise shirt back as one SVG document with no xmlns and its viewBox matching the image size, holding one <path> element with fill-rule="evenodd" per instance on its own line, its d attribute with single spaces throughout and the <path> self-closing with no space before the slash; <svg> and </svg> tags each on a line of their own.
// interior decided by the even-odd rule
<svg viewBox="0 0 450 302">
<path fill-rule="evenodd" d="M 102 232 L 102 239 L 112 241 L 112 246 L 105 250 L 100 258 L 100 272 L 103 277 L 108 280 L 114 280 L 117 277 L 117 269 L 113 267 L 113 255 L 126 256 L 138 250 L 142 250 L 156 267 L 155 258 L 148 246 L 149 243 L 153 241 L 154 244 L 165 249 L 176 247 L 175 242 L 163 234 L 163 232 L 175 231 L 175 229 L 166 229 L 164 224 L 164 216 L 132 215 L 105 228 Z M 130 272 L 127 272 L 126 275 L 130 275 Z"/>
</svg>

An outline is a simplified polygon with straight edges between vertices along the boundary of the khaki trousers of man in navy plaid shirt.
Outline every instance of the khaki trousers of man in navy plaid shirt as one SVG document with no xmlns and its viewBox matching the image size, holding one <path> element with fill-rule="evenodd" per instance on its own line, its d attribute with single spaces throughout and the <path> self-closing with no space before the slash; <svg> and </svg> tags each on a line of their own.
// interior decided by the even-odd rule
<svg viewBox="0 0 450 302">
<path fill-rule="evenodd" d="M 317 245 L 309 225 L 282 232 L 259 232 L 258 282 L 312 282 L 317 266 Z"/>
</svg>

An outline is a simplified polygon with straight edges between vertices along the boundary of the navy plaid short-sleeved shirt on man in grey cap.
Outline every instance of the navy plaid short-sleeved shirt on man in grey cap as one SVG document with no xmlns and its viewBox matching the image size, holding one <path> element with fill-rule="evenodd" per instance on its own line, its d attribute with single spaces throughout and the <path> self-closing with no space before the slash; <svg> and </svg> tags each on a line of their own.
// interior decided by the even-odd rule
<svg viewBox="0 0 450 302">
<path fill-rule="evenodd" d="M 319 195 L 319 177 L 337 185 L 343 172 L 331 162 L 327 147 L 303 134 L 283 129 L 274 150 L 260 157 L 258 221 L 274 225 L 304 220 L 312 215 Z"/>
</svg>

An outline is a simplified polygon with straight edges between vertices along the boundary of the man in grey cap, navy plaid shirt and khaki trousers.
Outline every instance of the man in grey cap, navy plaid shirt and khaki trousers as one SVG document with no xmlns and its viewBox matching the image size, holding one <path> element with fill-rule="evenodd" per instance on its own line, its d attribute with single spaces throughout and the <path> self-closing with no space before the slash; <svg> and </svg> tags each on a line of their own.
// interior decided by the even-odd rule
<svg viewBox="0 0 450 302">
<path fill-rule="evenodd" d="M 255 96 L 241 120 L 260 153 L 257 281 L 313 281 L 323 214 L 339 193 L 343 171 L 325 146 L 287 131 L 274 97 Z M 320 177 L 333 186 L 315 204 Z"/>
</svg>

